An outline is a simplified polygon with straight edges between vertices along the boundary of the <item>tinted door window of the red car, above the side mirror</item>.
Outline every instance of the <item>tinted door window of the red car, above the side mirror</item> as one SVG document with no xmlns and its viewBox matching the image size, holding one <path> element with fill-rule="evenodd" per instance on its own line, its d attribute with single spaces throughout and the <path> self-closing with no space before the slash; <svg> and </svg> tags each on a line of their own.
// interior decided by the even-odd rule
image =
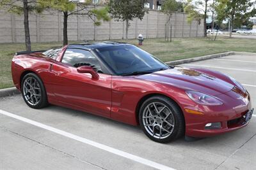
<svg viewBox="0 0 256 170">
<path fill-rule="evenodd" d="M 86 50 L 67 48 L 62 62 L 74 67 L 91 66 L 95 71 L 102 73 L 99 60 Z"/>
</svg>

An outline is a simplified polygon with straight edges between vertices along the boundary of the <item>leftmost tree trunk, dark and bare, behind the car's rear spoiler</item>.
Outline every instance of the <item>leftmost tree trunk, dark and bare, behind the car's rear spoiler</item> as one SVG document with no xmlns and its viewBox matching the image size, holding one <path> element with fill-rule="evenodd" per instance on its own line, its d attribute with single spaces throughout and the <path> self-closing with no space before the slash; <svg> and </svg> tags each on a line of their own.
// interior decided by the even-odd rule
<svg viewBox="0 0 256 170">
<path fill-rule="evenodd" d="M 31 42 L 29 34 L 29 21 L 28 21 L 28 0 L 23 0 L 23 12 L 24 12 L 24 30 L 25 30 L 25 42 L 26 50 L 31 51 Z"/>
</svg>

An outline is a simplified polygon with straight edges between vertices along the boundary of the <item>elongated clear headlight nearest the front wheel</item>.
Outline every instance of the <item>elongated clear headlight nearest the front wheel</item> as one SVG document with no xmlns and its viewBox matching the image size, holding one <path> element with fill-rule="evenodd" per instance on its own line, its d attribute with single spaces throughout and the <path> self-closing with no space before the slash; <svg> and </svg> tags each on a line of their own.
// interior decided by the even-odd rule
<svg viewBox="0 0 256 170">
<path fill-rule="evenodd" d="M 198 104 L 209 105 L 209 106 L 223 104 L 221 101 L 219 101 L 215 97 L 209 96 L 201 92 L 195 92 L 195 91 L 189 90 L 189 91 L 186 91 L 186 94 L 190 99 L 192 99 L 193 101 L 195 101 L 195 103 L 198 103 Z"/>
</svg>

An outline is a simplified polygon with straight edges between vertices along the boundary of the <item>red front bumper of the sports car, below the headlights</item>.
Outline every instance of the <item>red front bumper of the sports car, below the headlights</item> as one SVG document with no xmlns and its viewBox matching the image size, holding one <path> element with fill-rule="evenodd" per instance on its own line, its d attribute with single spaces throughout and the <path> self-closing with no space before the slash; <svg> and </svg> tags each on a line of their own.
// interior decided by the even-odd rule
<svg viewBox="0 0 256 170">
<path fill-rule="evenodd" d="M 234 92 L 227 92 L 218 97 L 223 101 L 223 105 L 221 106 L 197 105 L 185 107 L 204 113 L 204 115 L 193 115 L 184 111 L 186 136 L 197 138 L 215 136 L 217 134 L 235 131 L 248 125 L 253 114 L 249 94 L 244 96 L 246 100 L 244 100 L 244 97 L 243 99 L 238 98 Z M 205 129 L 206 124 L 218 122 L 221 124 L 220 128 Z"/>
</svg>

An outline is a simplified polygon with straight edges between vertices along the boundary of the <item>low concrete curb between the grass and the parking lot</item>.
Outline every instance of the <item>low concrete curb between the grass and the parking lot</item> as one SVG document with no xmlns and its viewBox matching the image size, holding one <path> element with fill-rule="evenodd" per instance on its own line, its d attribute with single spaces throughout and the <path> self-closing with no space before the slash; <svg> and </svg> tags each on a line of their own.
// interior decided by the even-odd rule
<svg viewBox="0 0 256 170">
<path fill-rule="evenodd" d="M 190 59 L 174 60 L 174 61 L 165 62 L 165 63 L 168 65 L 174 66 L 174 65 L 179 65 L 179 64 L 185 64 L 188 62 L 195 62 L 195 61 L 200 61 L 200 60 L 225 57 L 228 55 L 250 55 L 250 56 L 256 57 L 256 53 L 250 53 L 250 52 L 225 52 L 225 53 L 216 53 L 216 54 L 212 54 L 212 55 L 205 55 L 202 57 L 194 57 L 194 58 L 190 58 Z M 0 89 L 0 97 L 13 96 L 15 94 L 20 94 L 19 90 L 16 89 L 16 87 Z"/>
</svg>

